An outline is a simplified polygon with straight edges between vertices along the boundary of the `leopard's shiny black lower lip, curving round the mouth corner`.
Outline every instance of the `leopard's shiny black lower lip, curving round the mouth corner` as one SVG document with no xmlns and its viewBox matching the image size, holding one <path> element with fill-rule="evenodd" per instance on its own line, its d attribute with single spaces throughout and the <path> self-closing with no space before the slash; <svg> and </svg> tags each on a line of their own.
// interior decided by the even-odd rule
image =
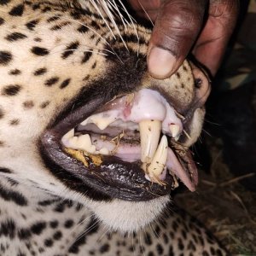
<svg viewBox="0 0 256 256">
<path fill-rule="evenodd" d="M 79 160 L 65 153 L 61 146 L 61 137 L 79 125 L 104 103 L 106 98 L 98 98 L 87 102 L 61 119 L 41 137 L 44 154 L 71 177 L 84 183 L 84 186 L 95 189 L 97 193 L 126 201 L 148 201 L 162 195 L 170 194 L 172 176 L 166 176 L 166 186 L 149 182 L 137 163 L 128 163 L 113 156 L 104 156 L 101 166 L 90 163 L 85 167 Z M 70 181 L 72 182 L 72 180 Z"/>
</svg>

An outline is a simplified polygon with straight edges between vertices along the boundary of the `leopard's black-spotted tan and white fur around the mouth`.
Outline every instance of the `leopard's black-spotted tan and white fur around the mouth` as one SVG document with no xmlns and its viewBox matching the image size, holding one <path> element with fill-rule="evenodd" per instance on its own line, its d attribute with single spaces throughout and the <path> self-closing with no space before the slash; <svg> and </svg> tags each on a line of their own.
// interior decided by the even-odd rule
<svg viewBox="0 0 256 256">
<path fill-rule="evenodd" d="M 97 97 L 147 87 L 177 110 L 193 107 L 189 62 L 170 79 L 151 78 L 150 31 L 111 18 L 94 1 L 0 0 L 0 255 L 226 255 L 169 196 L 114 199 L 44 157 L 44 132 Z M 191 113 L 181 143 L 195 142 L 203 114 Z"/>
</svg>

